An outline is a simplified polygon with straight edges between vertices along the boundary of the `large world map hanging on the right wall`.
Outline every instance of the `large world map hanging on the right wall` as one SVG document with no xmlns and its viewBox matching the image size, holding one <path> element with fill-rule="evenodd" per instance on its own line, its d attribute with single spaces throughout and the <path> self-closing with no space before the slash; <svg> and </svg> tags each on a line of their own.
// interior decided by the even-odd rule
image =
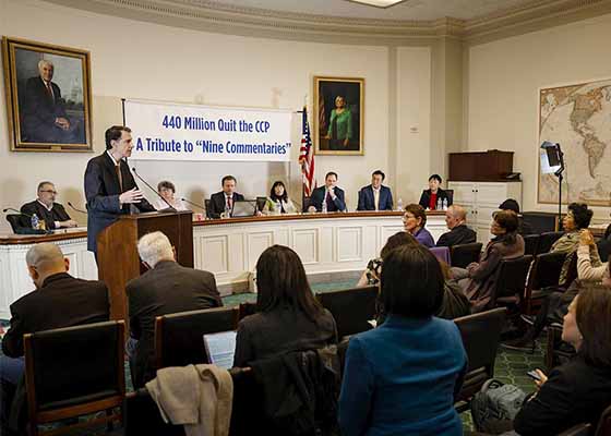
<svg viewBox="0 0 611 436">
<path fill-rule="evenodd" d="M 563 203 L 611 205 L 611 80 L 541 89 L 539 144 L 544 141 L 564 153 Z M 558 183 L 539 165 L 539 203 L 558 203 Z"/>
</svg>

